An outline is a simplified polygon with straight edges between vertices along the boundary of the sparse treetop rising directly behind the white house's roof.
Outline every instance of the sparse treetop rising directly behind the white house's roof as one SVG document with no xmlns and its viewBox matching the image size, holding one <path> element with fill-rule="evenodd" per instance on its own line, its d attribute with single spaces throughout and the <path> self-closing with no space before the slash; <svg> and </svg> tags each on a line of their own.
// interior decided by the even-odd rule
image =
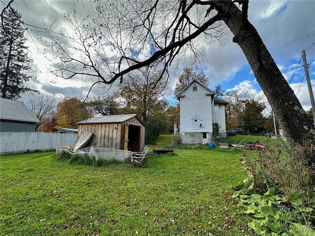
<svg viewBox="0 0 315 236">
<path fill-rule="evenodd" d="M 185 89 L 186 86 L 190 84 L 191 81 L 197 80 L 205 87 L 209 85 L 209 79 L 206 77 L 205 73 L 202 71 L 197 71 L 196 69 L 192 69 L 186 67 L 184 69 L 183 74 L 178 78 L 178 83 L 175 85 L 174 95 L 177 98 L 177 95 Z"/>
</svg>

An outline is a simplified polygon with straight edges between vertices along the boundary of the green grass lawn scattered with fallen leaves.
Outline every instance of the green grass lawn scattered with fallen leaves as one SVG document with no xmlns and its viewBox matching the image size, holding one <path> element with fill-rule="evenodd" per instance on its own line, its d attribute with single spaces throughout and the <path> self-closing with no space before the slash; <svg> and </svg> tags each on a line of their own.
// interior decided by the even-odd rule
<svg viewBox="0 0 315 236">
<path fill-rule="evenodd" d="M 79 166 L 51 151 L 1 156 L 0 235 L 254 235 L 231 198 L 244 151 L 174 148 L 149 168 Z"/>
</svg>

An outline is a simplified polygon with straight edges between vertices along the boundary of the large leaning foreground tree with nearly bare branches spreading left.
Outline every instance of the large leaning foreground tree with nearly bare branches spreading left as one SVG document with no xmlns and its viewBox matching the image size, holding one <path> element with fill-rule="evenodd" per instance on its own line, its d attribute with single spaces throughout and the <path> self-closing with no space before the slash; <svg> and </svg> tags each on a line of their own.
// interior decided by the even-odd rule
<svg viewBox="0 0 315 236">
<path fill-rule="evenodd" d="M 233 42 L 242 49 L 290 141 L 302 145 L 314 129 L 249 22 L 248 0 L 170 0 L 167 4 L 158 0 L 96 0 L 93 4 L 97 15 L 93 21 L 79 18 L 82 15 L 74 10 L 63 18 L 73 31 L 46 31 L 47 49 L 60 59 L 55 75 L 64 79 L 89 76 L 97 79 L 96 85 L 123 82 L 129 72 L 150 65 L 163 65 L 162 73 L 166 73 L 172 62 L 185 59 L 185 53 L 192 52 L 200 62 L 198 39 L 223 44 L 225 25 L 234 34 Z"/>
</svg>

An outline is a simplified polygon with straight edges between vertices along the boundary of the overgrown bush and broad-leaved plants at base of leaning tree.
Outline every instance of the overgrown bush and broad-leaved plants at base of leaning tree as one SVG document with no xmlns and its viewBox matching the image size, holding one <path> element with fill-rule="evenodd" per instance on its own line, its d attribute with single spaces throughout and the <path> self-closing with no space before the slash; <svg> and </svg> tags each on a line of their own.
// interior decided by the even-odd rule
<svg viewBox="0 0 315 236">
<path fill-rule="evenodd" d="M 295 229 L 314 232 L 314 171 L 306 149 L 278 142 L 256 158 L 243 155 L 249 177 L 234 197 L 240 199 L 248 225 L 258 235 L 296 235 Z"/>
</svg>

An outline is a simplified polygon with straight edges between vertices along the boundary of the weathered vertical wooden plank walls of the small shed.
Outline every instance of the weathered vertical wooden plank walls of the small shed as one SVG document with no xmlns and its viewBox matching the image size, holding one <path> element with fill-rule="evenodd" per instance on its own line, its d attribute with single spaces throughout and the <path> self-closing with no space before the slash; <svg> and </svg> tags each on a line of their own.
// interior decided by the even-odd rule
<svg viewBox="0 0 315 236">
<path fill-rule="evenodd" d="M 145 126 L 137 117 L 130 118 L 121 123 L 80 123 L 78 126 L 78 138 L 84 130 L 93 132 L 92 140 L 88 146 L 99 148 L 115 148 L 127 150 L 129 125 L 140 127 L 140 150 L 144 148 Z M 140 151 L 139 150 L 139 151 Z"/>
</svg>

